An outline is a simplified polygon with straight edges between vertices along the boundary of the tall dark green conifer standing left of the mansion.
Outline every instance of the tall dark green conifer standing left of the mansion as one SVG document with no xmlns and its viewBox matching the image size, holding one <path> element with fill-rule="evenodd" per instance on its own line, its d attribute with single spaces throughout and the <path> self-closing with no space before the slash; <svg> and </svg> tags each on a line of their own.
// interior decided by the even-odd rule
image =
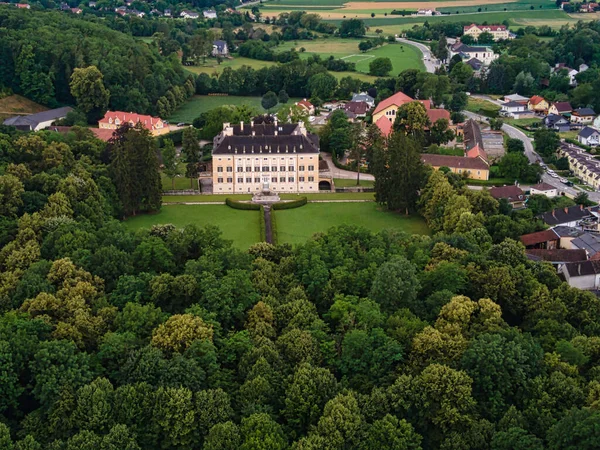
<svg viewBox="0 0 600 450">
<path fill-rule="evenodd" d="M 161 185 L 156 142 L 150 132 L 137 125 L 115 133 L 109 146 L 112 178 L 126 216 L 157 211 Z"/>
</svg>

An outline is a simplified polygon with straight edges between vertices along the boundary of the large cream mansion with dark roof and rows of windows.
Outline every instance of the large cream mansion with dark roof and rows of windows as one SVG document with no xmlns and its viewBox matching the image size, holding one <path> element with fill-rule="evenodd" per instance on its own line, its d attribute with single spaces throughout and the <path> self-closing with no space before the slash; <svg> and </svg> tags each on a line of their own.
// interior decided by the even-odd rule
<svg viewBox="0 0 600 450">
<path fill-rule="evenodd" d="M 223 124 L 213 140 L 213 193 L 317 192 L 319 137 L 304 123 Z"/>
</svg>

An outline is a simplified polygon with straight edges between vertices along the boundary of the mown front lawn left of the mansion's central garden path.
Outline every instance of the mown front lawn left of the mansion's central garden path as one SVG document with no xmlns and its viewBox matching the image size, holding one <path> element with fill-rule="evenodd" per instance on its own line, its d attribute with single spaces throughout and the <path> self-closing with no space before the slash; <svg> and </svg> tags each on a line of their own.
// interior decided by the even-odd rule
<svg viewBox="0 0 600 450">
<path fill-rule="evenodd" d="M 232 240 L 236 247 L 246 249 L 260 241 L 259 219 L 260 211 L 243 211 L 226 205 L 166 205 L 157 214 L 131 217 L 124 223 L 132 230 L 169 223 L 177 227 L 216 225 L 225 239 Z"/>
</svg>

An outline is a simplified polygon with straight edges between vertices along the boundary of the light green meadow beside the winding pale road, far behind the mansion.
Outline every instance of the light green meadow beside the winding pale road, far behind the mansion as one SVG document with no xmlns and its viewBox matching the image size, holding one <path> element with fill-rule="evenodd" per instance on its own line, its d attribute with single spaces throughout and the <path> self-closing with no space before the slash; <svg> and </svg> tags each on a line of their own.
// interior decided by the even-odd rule
<svg viewBox="0 0 600 450">
<path fill-rule="evenodd" d="M 300 53 L 301 58 L 308 58 L 311 55 L 318 54 L 323 59 L 333 56 L 337 59 L 353 62 L 356 64 L 357 72 L 367 74 L 369 72 L 369 64 L 375 58 L 385 57 L 392 61 L 392 74 L 397 75 L 406 69 L 425 70 L 423 64 L 423 54 L 421 51 L 406 44 L 389 44 L 386 43 L 381 47 L 361 53 L 358 50 L 360 39 L 315 39 L 314 41 L 289 41 L 277 47 L 277 51 L 285 51 L 295 48 L 300 50 L 304 48 L 304 52 Z M 335 72 L 331 72 L 336 75 Z M 343 72 L 345 75 L 354 76 L 353 72 Z M 373 78 L 373 77 L 371 77 Z"/>
</svg>

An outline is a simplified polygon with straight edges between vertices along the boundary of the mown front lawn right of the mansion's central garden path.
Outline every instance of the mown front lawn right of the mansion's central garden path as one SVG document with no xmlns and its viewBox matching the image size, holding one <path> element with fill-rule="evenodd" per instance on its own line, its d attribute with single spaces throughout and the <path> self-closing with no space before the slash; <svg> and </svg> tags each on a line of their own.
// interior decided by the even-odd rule
<svg viewBox="0 0 600 450">
<path fill-rule="evenodd" d="M 302 243 L 315 233 L 343 224 L 359 225 L 375 232 L 396 229 L 408 234 L 429 234 L 423 218 L 385 211 L 375 202 L 309 203 L 300 208 L 275 211 L 274 216 L 279 243 Z"/>
</svg>

